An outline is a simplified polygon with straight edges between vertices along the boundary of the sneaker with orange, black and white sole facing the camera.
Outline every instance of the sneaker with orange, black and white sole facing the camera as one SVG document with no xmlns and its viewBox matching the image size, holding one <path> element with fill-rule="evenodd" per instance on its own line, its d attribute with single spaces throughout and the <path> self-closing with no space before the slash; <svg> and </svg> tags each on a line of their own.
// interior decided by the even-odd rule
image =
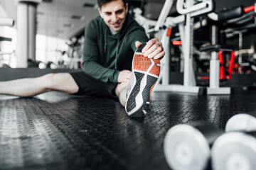
<svg viewBox="0 0 256 170">
<path fill-rule="evenodd" d="M 134 53 L 132 77 L 127 89 L 125 111 L 132 118 L 143 118 L 149 111 L 149 101 L 154 84 L 160 74 L 160 60 L 149 59 L 142 53 L 142 44 Z"/>
</svg>

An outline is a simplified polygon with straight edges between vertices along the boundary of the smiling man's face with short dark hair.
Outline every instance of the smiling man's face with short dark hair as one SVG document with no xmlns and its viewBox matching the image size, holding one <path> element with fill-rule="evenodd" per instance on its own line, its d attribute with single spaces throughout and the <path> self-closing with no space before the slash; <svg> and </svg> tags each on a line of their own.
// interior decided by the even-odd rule
<svg viewBox="0 0 256 170">
<path fill-rule="evenodd" d="M 128 4 L 124 7 L 122 0 L 115 0 L 102 5 L 102 8 L 98 10 L 111 30 L 119 31 L 122 29 L 128 11 Z"/>
</svg>

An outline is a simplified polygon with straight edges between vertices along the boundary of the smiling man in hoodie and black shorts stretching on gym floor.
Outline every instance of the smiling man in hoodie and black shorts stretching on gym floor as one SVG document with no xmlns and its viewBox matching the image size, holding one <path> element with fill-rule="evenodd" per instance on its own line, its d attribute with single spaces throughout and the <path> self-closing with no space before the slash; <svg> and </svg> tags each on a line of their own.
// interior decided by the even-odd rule
<svg viewBox="0 0 256 170">
<path fill-rule="evenodd" d="M 150 79 L 146 79 L 146 72 L 140 71 L 145 78 L 144 91 L 139 92 L 138 103 L 135 90 L 142 83 L 135 75 L 131 79 L 132 56 L 142 42 L 147 42 L 141 53 L 134 57 L 137 56 L 135 58 L 139 59 L 143 54 L 144 58 L 139 60 L 153 61 L 154 57 L 156 61 L 164 56 L 163 47 L 158 39 L 149 40 L 146 37 L 144 29 L 129 15 L 126 0 L 97 2 L 101 18 L 90 21 L 85 29 L 82 64 L 84 72 L 46 74 L 31 79 L 2 81 L 0 94 L 35 96 L 55 90 L 75 95 L 118 97 L 122 106 L 125 106 L 128 97 L 129 103 L 135 103 L 135 106 L 128 104 L 127 113 L 131 117 L 143 117 L 148 110 L 151 88 L 154 86 L 150 83 L 155 83 L 156 80 L 148 82 Z M 138 64 L 133 65 L 136 67 Z M 149 65 L 149 62 L 146 62 L 145 67 Z M 129 81 L 129 94 L 127 94 Z M 135 86 L 134 83 L 139 86 Z M 150 86 L 146 86 L 147 84 Z M 144 94 L 149 95 L 144 97 Z"/>
</svg>

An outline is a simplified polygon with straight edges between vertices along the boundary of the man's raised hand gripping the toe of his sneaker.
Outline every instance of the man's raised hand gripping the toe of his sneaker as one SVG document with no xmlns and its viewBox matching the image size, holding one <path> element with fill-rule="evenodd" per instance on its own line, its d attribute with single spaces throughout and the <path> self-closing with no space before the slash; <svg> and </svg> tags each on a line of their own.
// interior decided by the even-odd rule
<svg viewBox="0 0 256 170">
<path fill-rule="evenodd" d="M 135 42 L 136 47 L 139 47 L 142 45 L 142 42 Z M 146 42 L 146 46 L 142 49 L 142 53 L 144 53 L 145 57 L 159 59 L 161 57 L 164 57 L 164 47 L 162 46 L 162 43 L 157 38 L 153 38 Z"/>
</svg>

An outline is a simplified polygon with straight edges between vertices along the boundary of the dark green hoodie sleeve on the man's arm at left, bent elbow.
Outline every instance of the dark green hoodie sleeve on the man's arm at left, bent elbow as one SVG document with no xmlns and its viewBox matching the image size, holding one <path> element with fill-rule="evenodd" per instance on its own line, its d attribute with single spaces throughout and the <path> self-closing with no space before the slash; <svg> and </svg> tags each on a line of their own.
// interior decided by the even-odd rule
<svg viewBox="0 0 256 170">
<path fill-rule="evenodd" d="M 117 83 L 119 70 L 108 69 L 98 63 L 100 57 L 99 48 L 97 46 L 97 27 L 92 23 L 88 23 L 85 29 L 85 44 L 83 47 L 82 69 L 95 79 L 101 81 Z"/>
</svg>

